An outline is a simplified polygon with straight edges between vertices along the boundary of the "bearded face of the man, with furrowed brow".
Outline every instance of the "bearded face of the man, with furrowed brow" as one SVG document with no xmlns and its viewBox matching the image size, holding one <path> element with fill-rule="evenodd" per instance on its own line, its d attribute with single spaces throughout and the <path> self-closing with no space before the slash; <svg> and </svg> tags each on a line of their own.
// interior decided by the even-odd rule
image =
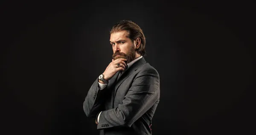
<svg viewBox="0 0 256 135">
<path fill-rule="evenodd" d="M 118 58 L 125 58 L 127 59 L 126 63 L 129 63 L 135 59 L 135 42 L 132 42 L 127 36 L 127 31 L 119 31 L 111 34 L 110 43 L 113 48 L 112 59 L 116 60 Z"/>
</svg>

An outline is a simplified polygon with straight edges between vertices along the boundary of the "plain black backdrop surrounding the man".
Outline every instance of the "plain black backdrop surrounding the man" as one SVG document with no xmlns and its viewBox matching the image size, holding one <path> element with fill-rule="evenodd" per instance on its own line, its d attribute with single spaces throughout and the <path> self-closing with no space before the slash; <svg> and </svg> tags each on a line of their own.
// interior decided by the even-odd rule
<svg viewBox="0 0 256 135">
<path fill-rule="evenodd" d="M 97 135 L 83 101 L 111 62 L 109 31 L 132 20 L 160 74 L 154 135 L 247 134 L 253 126 L 253 4 L 3 2 L 2 130 Z M 3 10 L 4 9 L 4 10 Z M 7 135 L 6 134 L 6 135 Z"/>
</svg>

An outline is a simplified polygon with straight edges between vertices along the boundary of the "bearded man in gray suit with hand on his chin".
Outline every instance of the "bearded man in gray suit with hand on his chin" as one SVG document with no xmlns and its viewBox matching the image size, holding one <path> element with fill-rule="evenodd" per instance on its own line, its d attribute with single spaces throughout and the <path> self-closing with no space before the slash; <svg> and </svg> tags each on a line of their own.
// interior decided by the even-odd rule
<svg viewBox="0 0 256 135">
<path fill-rule="evenodd" d="M 151 135 L 160 98 L 160 78 L 145 54 L 145 36 L 123 20 L 110 32 L 112 62 L 95 80 L 84 100 L 84 113 L 95 117 L 100 135 Z"/>
</svg>

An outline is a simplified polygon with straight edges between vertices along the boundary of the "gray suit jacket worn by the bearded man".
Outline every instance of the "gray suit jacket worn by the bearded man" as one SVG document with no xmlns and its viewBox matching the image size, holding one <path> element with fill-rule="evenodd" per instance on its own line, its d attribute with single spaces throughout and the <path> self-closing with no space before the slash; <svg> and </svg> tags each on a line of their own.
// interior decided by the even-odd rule
<svg viewBox="0 0 256 135">
<path fill-rule="evenodd" d="M 84 100 L 87 117 L 99 117 L 100 135 L 151 135 L 151 120 L 160 98 L 157 70 L 142 57 L 122 73 L 117 72 L 103 90 L 98 78 Z"/>
</svg>

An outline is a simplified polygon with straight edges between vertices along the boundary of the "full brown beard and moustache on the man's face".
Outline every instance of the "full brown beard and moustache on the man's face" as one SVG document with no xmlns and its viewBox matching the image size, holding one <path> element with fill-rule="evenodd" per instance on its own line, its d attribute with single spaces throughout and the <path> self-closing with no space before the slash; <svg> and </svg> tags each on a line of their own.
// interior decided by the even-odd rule
<svg viewBox="0 0 256 135">
<path fill-rule="evenodd" d="M 119 56 L 117 56 L 117 55 L 119 55 Z M 135 57 L 136 57 L 135 48 L 131 48 L 131 50 L 127 54 L 116 51 L 112 55 L 112 59 L 114 59 L 114 60 L 119 59 L 119 58 L 127 59 L 127 61 L 125 63 L 129 63 L 129 62 L 133 61 L 135 59 Z"/>
</svg>

